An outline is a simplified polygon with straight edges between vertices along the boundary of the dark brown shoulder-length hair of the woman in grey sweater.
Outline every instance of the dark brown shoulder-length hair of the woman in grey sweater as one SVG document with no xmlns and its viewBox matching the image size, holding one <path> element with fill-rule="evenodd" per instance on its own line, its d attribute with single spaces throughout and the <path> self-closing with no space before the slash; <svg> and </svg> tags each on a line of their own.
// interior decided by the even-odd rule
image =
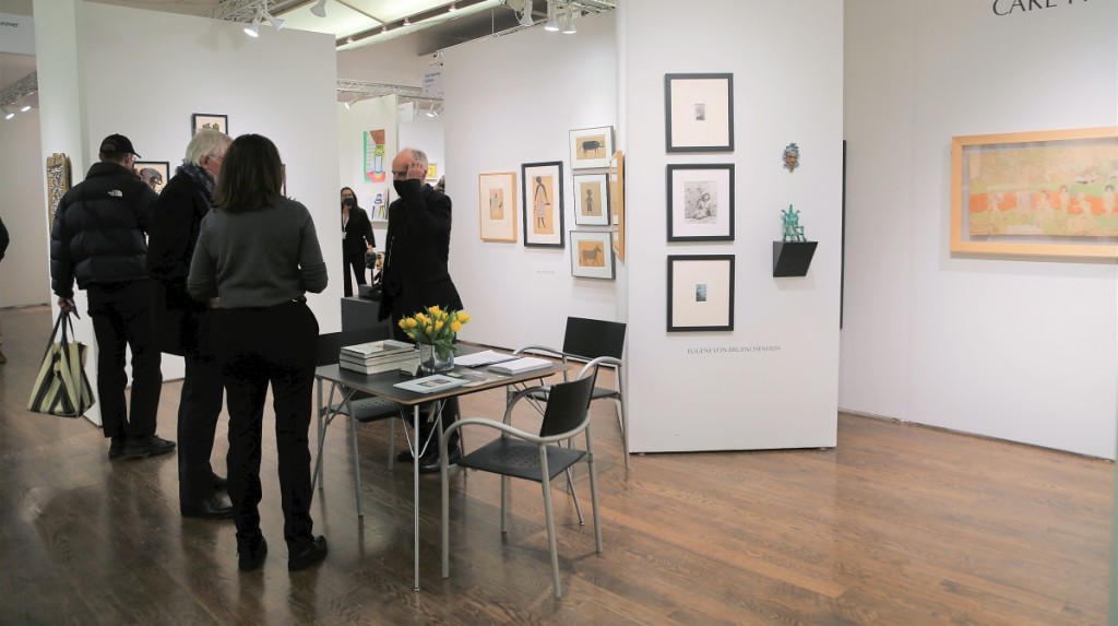
<svg viewBox="0 0 1118 626">
<path fill-rule="evenodd" d="M 214 206 L 222 211 L 263 209 L 280 198 L 283 162 L 276 144 L 264 135 L 240 135 L 229 145 L 214 189 Z"/>
</svg>

